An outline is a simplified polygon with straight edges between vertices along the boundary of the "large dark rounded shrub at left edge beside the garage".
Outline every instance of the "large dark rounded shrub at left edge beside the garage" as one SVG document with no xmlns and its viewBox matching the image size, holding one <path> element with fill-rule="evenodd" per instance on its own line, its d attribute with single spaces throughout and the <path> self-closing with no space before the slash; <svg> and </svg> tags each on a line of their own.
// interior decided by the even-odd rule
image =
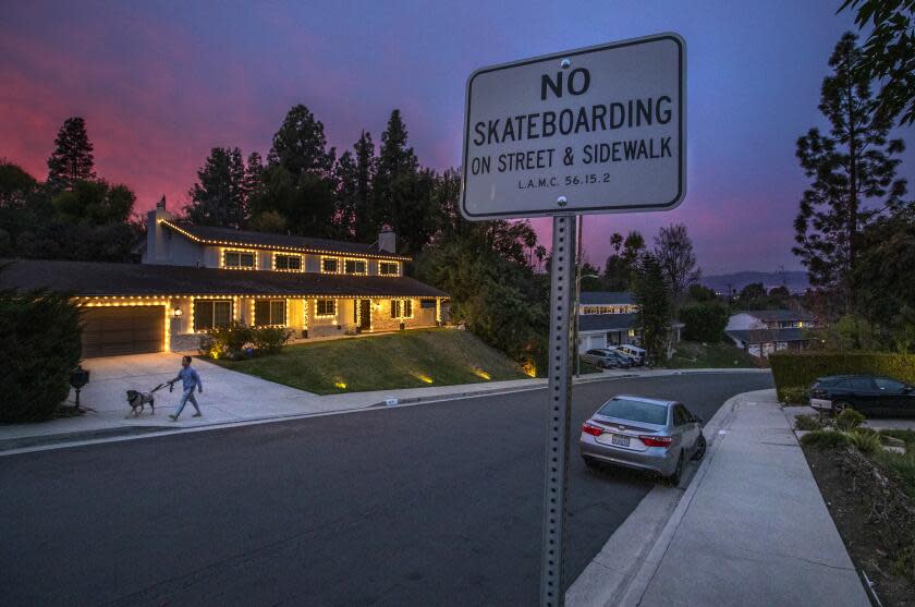
<svg viewBox="0 0 915 607">
<path fill-rule="evenodd" d="M 83 354 L 81 335 L 69 294 L 0 291 L 0 422 L 54 416 Z"/>
</svg>

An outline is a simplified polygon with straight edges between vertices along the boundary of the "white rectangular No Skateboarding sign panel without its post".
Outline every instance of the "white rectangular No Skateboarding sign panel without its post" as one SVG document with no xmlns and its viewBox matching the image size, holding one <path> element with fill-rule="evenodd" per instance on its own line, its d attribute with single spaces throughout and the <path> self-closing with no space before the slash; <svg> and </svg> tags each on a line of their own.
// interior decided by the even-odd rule
<svg viewBox="0 0 915 607">
<path fill-rule="evenodd" d="M 467 80 L 469 220 L 666 210 L 686 192 L 685 43 L 659 34 Z"/>
</svg>

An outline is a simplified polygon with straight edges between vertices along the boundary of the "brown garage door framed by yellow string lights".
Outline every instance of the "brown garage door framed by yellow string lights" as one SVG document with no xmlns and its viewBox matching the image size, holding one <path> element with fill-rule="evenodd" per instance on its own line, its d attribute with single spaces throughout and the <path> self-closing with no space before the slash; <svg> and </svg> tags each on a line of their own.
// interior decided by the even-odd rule
<svg viewBox="0 0 915 607">
<path fill-rule="evenodd" d="M 160 352 L 164 306 L 87 307 L 83 311 L 83 356 Z"/>
</svg>

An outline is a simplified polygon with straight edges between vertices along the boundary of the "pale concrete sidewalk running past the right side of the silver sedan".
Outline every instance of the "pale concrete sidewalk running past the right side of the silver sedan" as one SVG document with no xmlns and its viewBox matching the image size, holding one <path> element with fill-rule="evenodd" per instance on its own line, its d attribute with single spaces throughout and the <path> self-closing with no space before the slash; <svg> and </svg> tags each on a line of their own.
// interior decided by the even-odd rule
<svg viewBox="0 0 915 607">
<path fill-rule="evenodd" d="M 614 604 L 870 605 L 774 390 L 728 405 L 706 461 Z"/>
</svg>

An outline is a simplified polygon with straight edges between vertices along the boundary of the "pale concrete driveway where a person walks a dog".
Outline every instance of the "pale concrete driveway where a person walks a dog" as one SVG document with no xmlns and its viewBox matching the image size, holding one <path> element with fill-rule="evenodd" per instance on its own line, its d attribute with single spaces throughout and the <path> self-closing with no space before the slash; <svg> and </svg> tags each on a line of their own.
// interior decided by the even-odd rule
<svg viewBox="0 0 915 607">
<path fill-rule="evenodd" d="M 52 420 L 42 424 L 0 426 L 0 438 L 17 439 L 36 435 L 85 433 L 123 427 L 193 427 L 277 417 L 320 413 L 333 409 L 318 396 L 273 384 L 258 377 L 229 371 L 195 359 L 193 366 L 204 383 L 204 392 L 197 394 L 203 417 L 192 417 L 190 404 L 178 422 L 168 418 L 174 413 L 181 398 L 181 385 L 169 392 L 162 388 L 155 393 L 156 414 L 149 408 L 138 417 L 127 417 L 127 390 L 151 390 L 162 381 L 173 379 L 181 368 L 181 355 L 172 353 L 132 354 L 87 359 L 83 368 L 90 372 L 89 383 L 80 394 L 80 404 L 87 409 L 81 417 Z M 70 401 L 75 398 L 71 390 Z M 37 432 L 36 432 L 37 430 Z"/>
</svg>

